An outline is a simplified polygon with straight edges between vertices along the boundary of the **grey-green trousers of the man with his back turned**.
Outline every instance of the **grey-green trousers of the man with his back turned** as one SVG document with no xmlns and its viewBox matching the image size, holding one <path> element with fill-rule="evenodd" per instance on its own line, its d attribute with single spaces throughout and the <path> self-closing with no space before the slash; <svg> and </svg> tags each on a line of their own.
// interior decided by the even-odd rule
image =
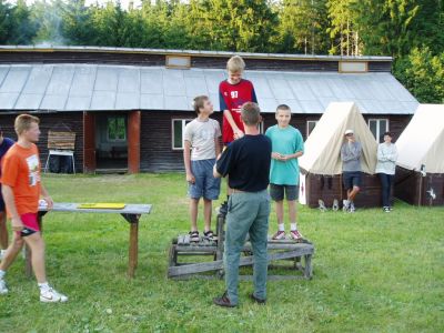
<svg viewBox="0 0 444 333">
<path fill-rule="evenodd" d="M 253 281 L 254 295 L 266 299 L 270 196 L 266 190 L 260 192 L 241 192 L 230 195 L 226 214 L 225 234 L 225 284 L 232 304 L 238 304 L 239 260 L 245 243 L 246 234 L 254 255 Z"/>
</svg>

